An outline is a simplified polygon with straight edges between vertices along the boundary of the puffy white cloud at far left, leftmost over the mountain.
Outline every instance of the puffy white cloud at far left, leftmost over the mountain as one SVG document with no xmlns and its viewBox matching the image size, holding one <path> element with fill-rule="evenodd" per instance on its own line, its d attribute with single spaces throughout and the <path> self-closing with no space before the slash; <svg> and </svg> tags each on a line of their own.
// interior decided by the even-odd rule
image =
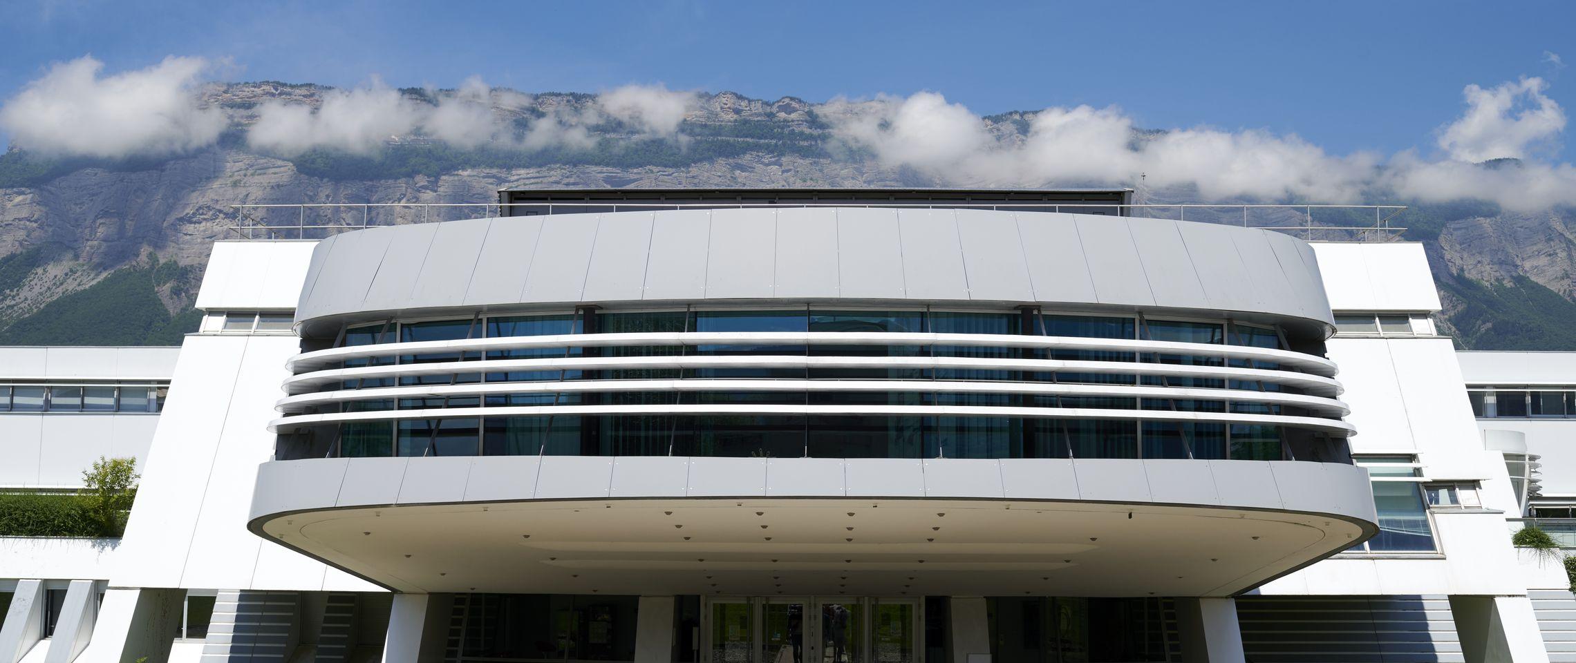
<svg viewBox="0 0 1576 663">
<path fill-rule="evenodd" d="M 213 145 L 227 126 L 197 98 L 203 58 L 169 57 L 145 69 L 101 76 L 91 55 L 55 63 L 0 106 L 16 146 L 47 154 L 126 157 Z"/>
</svg>

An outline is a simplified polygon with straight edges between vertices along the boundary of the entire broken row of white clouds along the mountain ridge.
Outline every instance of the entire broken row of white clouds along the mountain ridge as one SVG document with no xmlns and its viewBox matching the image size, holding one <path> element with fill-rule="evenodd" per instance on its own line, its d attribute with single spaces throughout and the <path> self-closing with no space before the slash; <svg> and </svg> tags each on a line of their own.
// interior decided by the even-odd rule
<svg viewBox="0 0 1576 663">
<path fill-rule="evenodd" d="M 214 145 L 230 126 L 200 94 L 210 63 L 165 58 L 112 76 L 84 57 L 50 68 L 0 106 L 0 129 L 43 154 L 159 156 Z M 1193 187 L 1206 200 L 1355 203 L 1492 200 L 1508 209 L 1576 205 L 1576 167 L 1554 162 L 1565 110 L 1548 82 L 1522 77 L 1467 85 L 1464 109 L 1434 132 L 1433 150 L 1333 154 L 1294 134 L 1209 126 L 1147 131 L 1117 107 L 1048 107 L 1018 121 L 988 121 L 941 93 L 832 99 L 813 107 L 827 145 L 890 167 L 969 186 Z M 249 146 L 279 156 L 309 150 L 374 154 L 392 139 L 426 137 L 457 148 L 586 150 L 608 128 L 676 140 L 700 101 L 693 91 L 627 85 L 580 104 L 533 106 L 528 94 L 481 79 L 407 94 L 378 79 L 326 90 L 315 104 L 265 101 L 244 128 Z M 1510 161 L 1507 161 L 1510 159 Z"/>
</svg>

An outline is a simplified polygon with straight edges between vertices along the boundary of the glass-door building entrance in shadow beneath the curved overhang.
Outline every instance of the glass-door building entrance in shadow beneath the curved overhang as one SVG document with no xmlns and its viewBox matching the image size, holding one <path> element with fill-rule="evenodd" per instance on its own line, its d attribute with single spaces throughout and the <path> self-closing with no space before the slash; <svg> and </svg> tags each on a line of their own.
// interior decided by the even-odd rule
<svg viewBox="0 0 1576 663">
<path fill-rule="evenodd" d="M 917 663 L 924 603 L 883 597 L 706 597 L 701 663 Z"/>
</svg>

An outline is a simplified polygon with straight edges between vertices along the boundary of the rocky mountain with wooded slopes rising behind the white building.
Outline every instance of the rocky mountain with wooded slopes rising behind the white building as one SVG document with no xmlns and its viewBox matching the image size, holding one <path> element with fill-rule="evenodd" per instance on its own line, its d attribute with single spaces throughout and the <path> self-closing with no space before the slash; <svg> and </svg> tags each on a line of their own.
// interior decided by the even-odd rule
<svg viewBox="0 0 1576 663">
<path fill-rule="evenodd" d="M 203 98 L 224 109 L 232 131 L 197 153 L 129 161 L 20 150 L 0 156 L 0 343 L 178 343 L 195 328 L 191 307 L 210 244 L 236 236 L 244 222 L 232 205 L 487 203 L 501 187 L 946 184 L 832 140 L 827 113 L 857 109 L 728 91 L 701 94 L 671 135 L 596 117 L 591 94 L 493 91 L 492 113 L 511 120 L 520 137 L 507 148 L 388 135 L 370 153 L 285 154 L 244 140 L 262 104 L 320 106 L 326 90 L 210 85 Z M 400 93 L 414 101 L 432 96 Z M 583 135 L 531 142 L 533 128 L 571 115 L 586 121 Z M 1012 140 L 1026 132 L 1028 113 L 985 121 L 993 135 Z M 1143 183 L 1054 184 L 1133 186 L 1149 203 L 1193 200 L 1188 191 Z M 361 211 L 350 214 L 359 220 Z M 408 211 L 378 214 L 385 214 L 378 222 L 414 220 Z M 1442 323 L 1459 345 L 1537 350 L 1576 348 L 1573 222 L 1571 209 L 1510 214 L 1472 202 L 1420 205 L 1393 220 L 1409 228 L 1403 239 L 1428 247 L 1447 302 Z"/>
</svg>

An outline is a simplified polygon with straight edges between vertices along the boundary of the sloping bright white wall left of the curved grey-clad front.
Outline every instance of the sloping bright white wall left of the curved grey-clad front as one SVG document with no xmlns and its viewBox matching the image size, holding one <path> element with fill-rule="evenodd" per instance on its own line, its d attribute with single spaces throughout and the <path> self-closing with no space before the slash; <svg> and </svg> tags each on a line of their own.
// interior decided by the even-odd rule
<svg viewBox="0 0 1576 663">
<path fill-rule="evenodd" d="M 284 302 L 279 291 L 299 290 L 306 276 L 301 258 L 310 247 L 221 243 L 214 247 L 219 276 L 210 272 L 199 301 L 219 309 L 277 307 Z M 255 271 L 224 276 L 225 266 Z M 269 283 L 243 287 L 257 280 Z M 211 294 L 210 287 L 224 291 Z M 295 294 L 285 307 L 293 304 Z M 115 586 L 380 591 L 246 529 L 257 466 L 274 452 L 266 425 L 277 416 L 274 402 L 290 375 L 285 359 L 296 353 L 299 339 L 293 335 L 186 337 L 110 575 Z"/>
</svg>

